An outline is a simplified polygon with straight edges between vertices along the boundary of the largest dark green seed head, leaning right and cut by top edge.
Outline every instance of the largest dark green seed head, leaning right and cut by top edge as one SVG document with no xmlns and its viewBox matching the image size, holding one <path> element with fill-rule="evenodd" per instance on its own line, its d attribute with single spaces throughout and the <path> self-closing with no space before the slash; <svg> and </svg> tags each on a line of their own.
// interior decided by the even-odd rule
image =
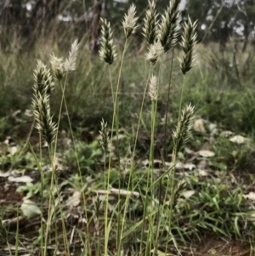
<svg viewBox="0 0 255 256">
<path fill-rule="evenodd" d="M 181 0 L 172 0 L 164 15 L 161 15 L 159 24 L 159 40 L 166 53 L 177 42 L 179 18 L 179 3 Z"/>
</svg>

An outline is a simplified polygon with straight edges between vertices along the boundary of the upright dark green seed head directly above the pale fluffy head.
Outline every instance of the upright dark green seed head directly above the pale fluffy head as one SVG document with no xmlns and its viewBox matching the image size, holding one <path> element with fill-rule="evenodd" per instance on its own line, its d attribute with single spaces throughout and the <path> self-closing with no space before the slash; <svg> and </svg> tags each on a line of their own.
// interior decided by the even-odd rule
<svg viewBox="0 0 255 256">
<path fill-rule="evenodd" d="M 156 14 L 156 4 L 154 0 L 149 2 L 149 9 L 146 10 L 146 14 L 144 17 L 144 27 L 143 27 L 143 35 L 146 38 L 147 42 L 152 44 L 156 41 L 157 37 L 157 16 Z"/>
</svg>

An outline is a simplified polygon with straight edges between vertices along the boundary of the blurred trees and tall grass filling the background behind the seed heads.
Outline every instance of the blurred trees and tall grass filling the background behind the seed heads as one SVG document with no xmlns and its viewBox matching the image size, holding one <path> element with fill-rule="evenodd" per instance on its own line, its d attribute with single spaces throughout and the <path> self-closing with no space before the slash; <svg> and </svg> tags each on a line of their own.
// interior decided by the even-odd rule
<svg viewBox="0 0 255 256">
<path fill-rule="evenodd" d="M 98 58 L 100 17 L 111 21 L 119 55 L 124 34 L 121 21 L 131 3 L 137 7 L 139 31 L 130 39 L 122 74 L 122 124 L 137 121 L 149 63 L 144 61 L 147 45 L 141 33 L 146 0 L 1 0 L 0 1 L 0 134 L 19 131 L 31 109 L 33 76 L 37 59 L 48 65 L 49 54 L 66 57 L 71 43 L 81 43 L 77 71 L 69 77 L 66 100 L 75 127 L 99 128 L 102 117 L 111 120 L 111 87 L 108 70 Z M 163 14 L 168 0 L 156 1 Z M 198 57 L 189 75 L 185 102 L 196 113 L 227 128 L 249 131 L 255 127 L 253 94 L 255 3 L 253 0 L 182 0 L 182 21 L 188 14 L 198 20 Z M 177 53 L 178 55 L 178 53 Z M 163 61 L 169 71 L 171 54 Z M 113 82 L 119 60 L 111 66 Z M 172 113 L 178 105 L 181 76 L 178 61 L 173 66 Z M 158 111 L 166 109 L 168 76 L 162 77 Z M 52 103 L 59 109 L 59 87 Z M 132 100 L 133 104 L 130 104 Z M 150 103 L 150 100 L 149 100 Z M 178 110 L 178 108 L 176 108 Z M 93 113 L 93 115 L 91 115 Z M 19 118 L 20 115 L 20 118 Z M 23 115 L 23 116 L 22 116 Z M 31 117 L 27 117 L 28 119 Z M 133 118 L 133 119 L 132 119 Z M 22 121 L 20 121 L 22 120 Z M 29 119 L 31 120 L 31 119 Z M 174 118 L 173 118 L 174 120 Z M 248 121 L 247 121 L 248 120 Z M 63 122 L 65 125 L 65 121 Z M 77 125 L 76 125 L 77 124 Z M 26 125 L 23 127 L 26 134 Z M 1 133 L 2 132 L 2 133 Z"/>
</svg>

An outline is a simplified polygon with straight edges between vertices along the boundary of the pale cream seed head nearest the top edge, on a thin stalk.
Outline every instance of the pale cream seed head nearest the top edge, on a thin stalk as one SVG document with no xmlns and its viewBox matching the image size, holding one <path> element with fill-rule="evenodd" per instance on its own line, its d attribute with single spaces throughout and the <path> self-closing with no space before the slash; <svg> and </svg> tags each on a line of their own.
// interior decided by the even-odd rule
<svg viewBox="0 0 255 256">
<path fill-rule="evenodd" d="M 127 14 L 124 16 L 124 20 L 122 21 L 122 26 L 124 28 L 126 38 L 130 37 L 138 28 L 138 26 L 136 26 L 138 17 L 135 17 L 135 14 L 135 5 L 132 3 L 127 10 Z"/>
</svg>

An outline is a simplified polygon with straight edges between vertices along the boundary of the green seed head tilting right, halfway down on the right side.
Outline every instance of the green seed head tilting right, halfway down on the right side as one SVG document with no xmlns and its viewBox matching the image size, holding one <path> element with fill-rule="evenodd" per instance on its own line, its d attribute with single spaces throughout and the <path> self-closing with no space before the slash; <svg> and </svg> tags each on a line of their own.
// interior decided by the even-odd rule
<svg viewBox="0 0 255 256">
<path fill-rule="evenodd" d="M 177 128 L 173 132 L 173 151 L 176 154 L 186 145 L 190 137 L 190 129 L 192 128 L 194 118 L 194 106 L 188 105 L 182 111 L 182 115 L 178 121 Z"/>
</svg>

